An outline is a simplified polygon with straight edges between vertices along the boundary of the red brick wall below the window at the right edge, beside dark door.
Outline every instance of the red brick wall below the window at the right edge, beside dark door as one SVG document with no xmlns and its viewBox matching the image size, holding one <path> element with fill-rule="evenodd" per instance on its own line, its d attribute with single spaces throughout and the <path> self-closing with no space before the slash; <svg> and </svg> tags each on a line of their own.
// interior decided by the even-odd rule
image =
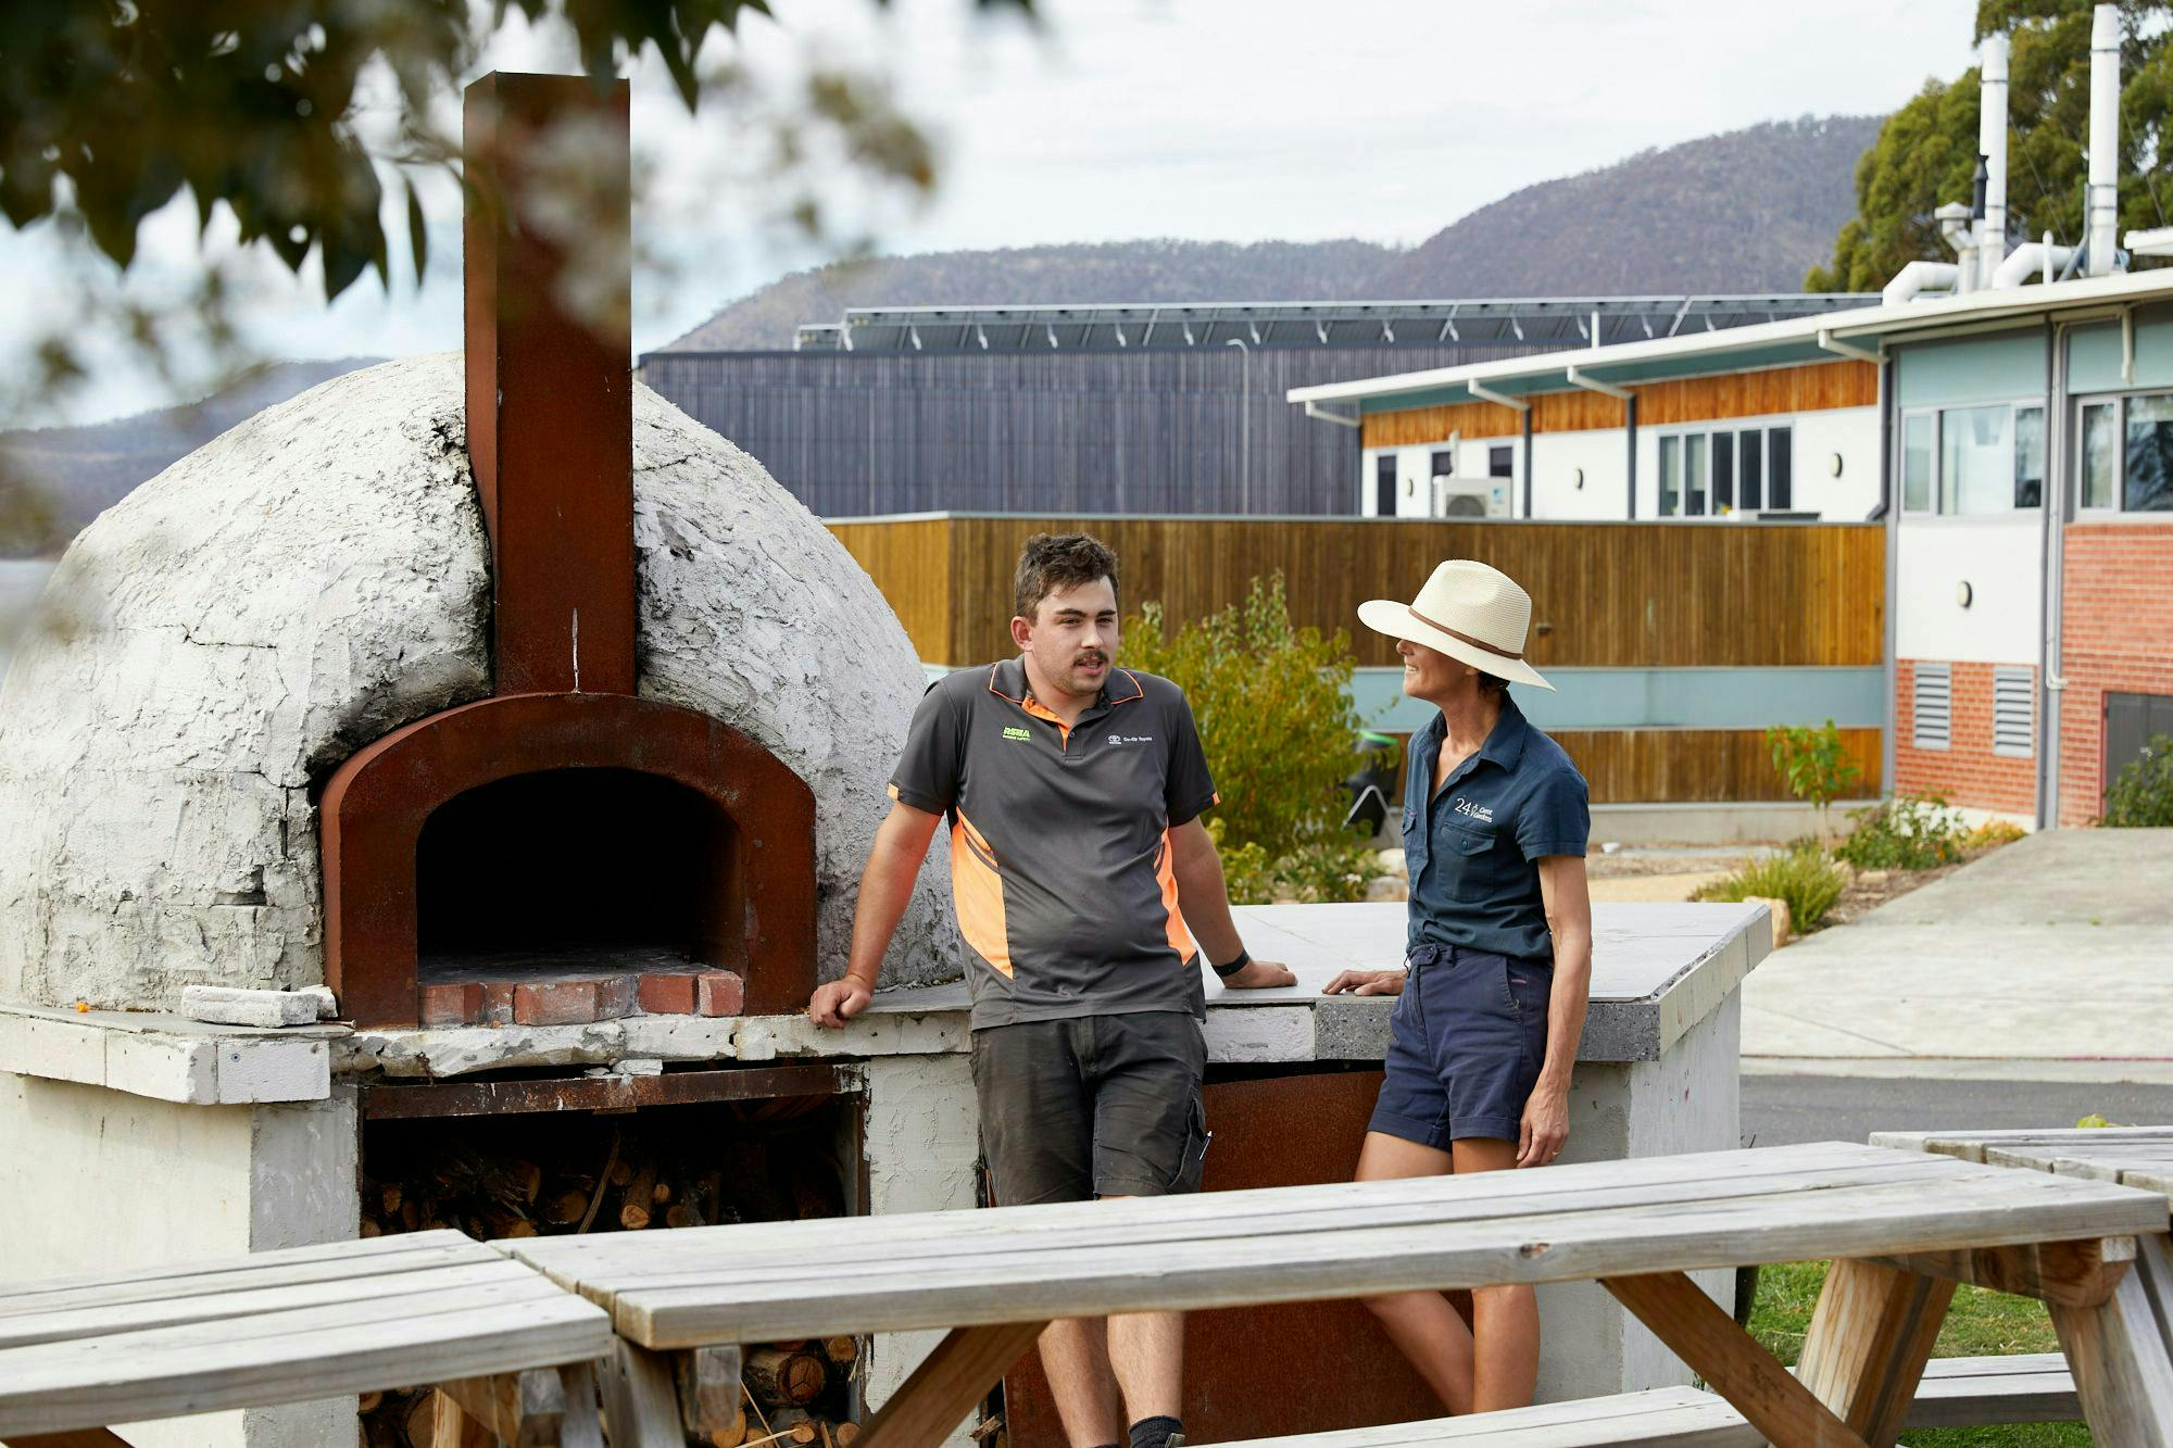
<svg viewBox="0 0 2173 1448">
<path fill-rule="evenodd" d="M 2173 694 L 2173 522 L 2069 524 L 2060 824 L 2103 809 L 2106 691 Z"/>
</svg>

